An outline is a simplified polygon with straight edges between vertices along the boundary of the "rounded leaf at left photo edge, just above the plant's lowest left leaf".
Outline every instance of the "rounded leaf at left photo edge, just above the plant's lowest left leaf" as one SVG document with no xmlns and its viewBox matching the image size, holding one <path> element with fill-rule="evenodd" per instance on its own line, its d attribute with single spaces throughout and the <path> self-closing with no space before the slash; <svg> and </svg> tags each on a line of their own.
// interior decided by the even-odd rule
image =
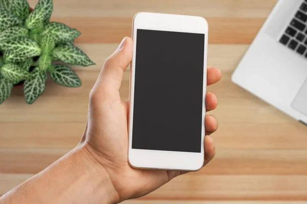
<svg viewBox="0 0 307 204">
<path fill-rule="evenodd" d="M 30 76 L 26 70 L 13 63 L 4 64 L 1 67 L 1 74 L 3 77 L 12 82 L 19 82 L 21 80 L 27 79 Z"/>
</svg>

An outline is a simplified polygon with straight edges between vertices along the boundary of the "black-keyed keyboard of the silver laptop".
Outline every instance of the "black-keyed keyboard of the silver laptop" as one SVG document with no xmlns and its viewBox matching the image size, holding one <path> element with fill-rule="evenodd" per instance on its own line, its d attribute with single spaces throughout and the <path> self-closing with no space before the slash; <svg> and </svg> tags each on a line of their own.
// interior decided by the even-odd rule
<svg viewBox="0 0 307 204">
<path fill-rule="evenodd" d="M 307 0 L 300 5 L 279 42 L 307 58 Z"/>
</svg>

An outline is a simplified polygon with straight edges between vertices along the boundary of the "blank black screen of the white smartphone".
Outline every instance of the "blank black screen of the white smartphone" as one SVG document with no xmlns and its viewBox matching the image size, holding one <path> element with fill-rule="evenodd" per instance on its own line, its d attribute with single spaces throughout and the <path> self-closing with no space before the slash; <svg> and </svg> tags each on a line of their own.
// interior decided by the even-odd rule
<svg viewBox="0 0 307 204">
<path fill-rule="evenodd" d="M 201 152 L 205 35 L 137 30 L 132 148 Z"/>
</svg>

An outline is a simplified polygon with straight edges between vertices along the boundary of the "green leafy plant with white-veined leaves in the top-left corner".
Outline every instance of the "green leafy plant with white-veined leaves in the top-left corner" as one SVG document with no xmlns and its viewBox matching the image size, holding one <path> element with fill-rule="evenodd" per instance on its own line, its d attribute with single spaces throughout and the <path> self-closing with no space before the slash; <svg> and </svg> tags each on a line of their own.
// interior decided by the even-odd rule
<svg viewBox="0 0 307 204">
<path fill-rule="evenodd" d="M 74 45 L 78 30 L 50 22 L 52 0 L 39 0 L 31 11 L 27 0 L 0 0 L 0 104 L 17 84 L 32 104 L 45 90 L 47 73 L 60 85 L 79 87 L 68 65 L 95 64 Z"/>
</svg>

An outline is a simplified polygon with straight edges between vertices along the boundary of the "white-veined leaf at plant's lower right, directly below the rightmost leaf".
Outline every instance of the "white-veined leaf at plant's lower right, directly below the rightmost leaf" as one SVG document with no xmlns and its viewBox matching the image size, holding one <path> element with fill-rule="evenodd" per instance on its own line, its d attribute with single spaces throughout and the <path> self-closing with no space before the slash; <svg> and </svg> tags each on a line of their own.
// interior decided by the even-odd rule
<svg viewBox="0 0 307 204">
<path fill-rule="evenodd" d="M 81 86 L 81 80 L 70 67 L 57 64 L 49 70 L 50 77 L 58 84 L 67 87 Z"/>
</svg>

